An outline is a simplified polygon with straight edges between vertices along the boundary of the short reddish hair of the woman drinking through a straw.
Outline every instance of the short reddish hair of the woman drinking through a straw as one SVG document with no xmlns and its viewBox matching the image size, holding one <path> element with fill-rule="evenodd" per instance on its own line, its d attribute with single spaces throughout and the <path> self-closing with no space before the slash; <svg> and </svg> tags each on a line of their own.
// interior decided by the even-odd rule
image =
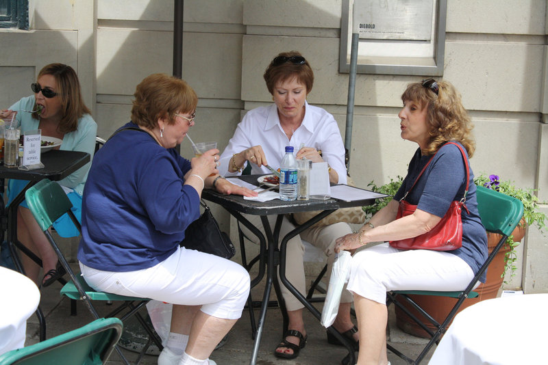
<svg viewBox="0 0 548 365">
<path fill-rule="evenodd" d="M 132 122 L 147 129 L 158 126 L 160 118 L 173 124 L 175 113 L 190 113 L 198 105 L 198 96 L 186 81 L 166 74 L 145 77 L 133 95 Z"/>
</svg>

